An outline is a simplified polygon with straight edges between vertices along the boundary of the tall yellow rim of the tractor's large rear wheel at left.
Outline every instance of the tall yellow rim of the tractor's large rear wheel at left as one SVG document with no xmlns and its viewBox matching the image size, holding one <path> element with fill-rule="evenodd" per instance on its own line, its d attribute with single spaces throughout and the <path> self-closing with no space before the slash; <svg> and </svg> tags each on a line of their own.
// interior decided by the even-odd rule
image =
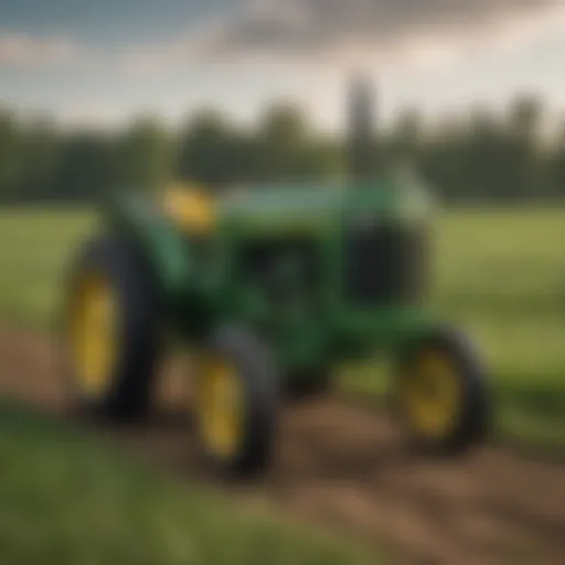
<svg viewBox="0 0 565 565">
<path fill-rule="evenodd" d="M 73 373 L 82 393 L 97 397 L 113 379 L 116 363 L 117 308 L 107 279 L 82 276 L 71 300 L 70 349 Z"/>
</svg>

